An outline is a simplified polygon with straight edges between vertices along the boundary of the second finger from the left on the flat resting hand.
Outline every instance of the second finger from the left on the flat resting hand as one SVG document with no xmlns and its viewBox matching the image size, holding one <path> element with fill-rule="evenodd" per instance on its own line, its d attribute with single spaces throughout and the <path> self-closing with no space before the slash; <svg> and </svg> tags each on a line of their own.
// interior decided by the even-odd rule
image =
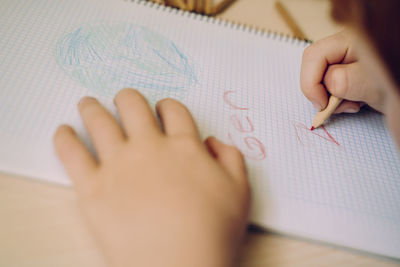
<svg viewBox="0 0 400 267">
<path fill-rule="evenodd" d="M 112 155 L 125 138 L 115 118 L 92 97 L 82 98 L 78 108 L 100 160 Z"/>
</svg>

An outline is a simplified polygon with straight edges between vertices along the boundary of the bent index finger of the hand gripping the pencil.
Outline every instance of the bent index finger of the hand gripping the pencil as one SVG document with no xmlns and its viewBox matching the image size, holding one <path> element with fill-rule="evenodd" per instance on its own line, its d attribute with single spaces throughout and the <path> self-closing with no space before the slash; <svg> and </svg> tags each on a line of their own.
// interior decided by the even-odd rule
<svg viewBox="0 0 400 267">
<path fill-rule="evenodd" d="M 326 68 L 331 64 L 355 61 L 354 53 L 349 51 L 347 33 L 339 33 L 320 40 L 304 50 L 300 86 L 304 95 L 321 110 L 328 104 L 328 94 L 322 84 Z"/>
</svg>

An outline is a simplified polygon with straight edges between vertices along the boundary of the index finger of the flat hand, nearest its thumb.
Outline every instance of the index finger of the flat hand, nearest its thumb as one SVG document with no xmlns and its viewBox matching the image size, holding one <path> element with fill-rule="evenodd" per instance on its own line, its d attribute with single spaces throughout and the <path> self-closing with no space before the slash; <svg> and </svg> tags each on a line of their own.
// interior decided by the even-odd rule
<svg viewBox="0 0 400 267">
<path fill-rule="evenodd" d="M 156 105 L 166 135 L 190 135 L 200 138 L 190 111 L 174 99 L 163 99 Z"/>
</svg>

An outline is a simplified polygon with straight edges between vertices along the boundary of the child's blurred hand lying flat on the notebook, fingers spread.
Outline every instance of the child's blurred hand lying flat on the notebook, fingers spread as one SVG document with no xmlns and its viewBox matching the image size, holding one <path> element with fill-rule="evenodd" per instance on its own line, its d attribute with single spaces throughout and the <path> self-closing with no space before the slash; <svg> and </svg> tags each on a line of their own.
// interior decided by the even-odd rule
<svg viewBox="0 0 400 267">
<path fill-rule="evenodd" d="M 79 111 L 98 154 L 72 128 L 54 137 L 83 213 L 112 266 L 232 266 L 249 203 L 240 152 L 201 142 L 189 111 L 125 89 L 115 97 L 122 127 L 95 99 Z"/>
</svg>

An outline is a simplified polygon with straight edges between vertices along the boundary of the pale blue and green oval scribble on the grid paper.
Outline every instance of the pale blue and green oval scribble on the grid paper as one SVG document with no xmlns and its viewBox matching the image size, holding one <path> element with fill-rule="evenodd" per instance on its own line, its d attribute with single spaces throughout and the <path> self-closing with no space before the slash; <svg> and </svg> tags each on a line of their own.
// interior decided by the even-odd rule
<svg viewBox="0 0 400 267">
<path fill-rule="evenodd" d="M 107 95 L 124 87 L 185 91 L 197 83 L 193 64 L 172 41 L 134 24 L 82 26 L 57 42 L 56 61 Z"/>
</svg>

